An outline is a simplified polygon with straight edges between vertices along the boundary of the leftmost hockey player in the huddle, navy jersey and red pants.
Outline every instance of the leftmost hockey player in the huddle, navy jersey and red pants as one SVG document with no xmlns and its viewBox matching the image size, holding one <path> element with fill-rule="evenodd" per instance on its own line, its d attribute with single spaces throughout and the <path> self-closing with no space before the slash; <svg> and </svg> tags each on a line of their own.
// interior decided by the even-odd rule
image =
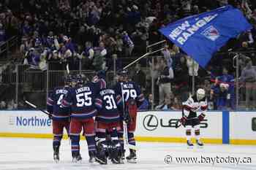
<svg viewBox="0 0 256 170">
<path fill-rule="evenodd" d="M 75 80 L 72 77 L 67 78 L 64 86 L 54 88 L 47 101 L 47 110 L 50 113 L 50 118 L 53 120 L 53 159 L 59 161 L 59 147 L 63 136 L 63 130 L 66 128 L 69 134 L 69 107 L 62 107 L 62 98 L 68 93 L 70 84 L 74 84 Z"/>
</svg>

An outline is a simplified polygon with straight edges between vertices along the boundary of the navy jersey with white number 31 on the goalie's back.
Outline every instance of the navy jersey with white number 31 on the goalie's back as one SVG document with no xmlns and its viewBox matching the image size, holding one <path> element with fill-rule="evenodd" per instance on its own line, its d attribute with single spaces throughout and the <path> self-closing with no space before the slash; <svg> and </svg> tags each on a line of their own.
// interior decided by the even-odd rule
<svg viewBox="0 0 256 170">
<path fill-rule="evenodd" d="M 118 108 L 121 109 L 121 98 L 117 98 L 113 89 L 105 88 L 99 91 L 95 99 L 98 114 L 96 120 L 112 123 L 120 119 Z"/>
</svg>

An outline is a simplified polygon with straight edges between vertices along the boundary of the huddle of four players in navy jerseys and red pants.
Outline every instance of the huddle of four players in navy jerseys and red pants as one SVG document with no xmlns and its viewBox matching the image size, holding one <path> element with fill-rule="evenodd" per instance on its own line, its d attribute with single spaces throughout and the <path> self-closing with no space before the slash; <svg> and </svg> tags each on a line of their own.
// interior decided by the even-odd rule
<svg viewBox="0 0 256 170">
<path fill-rule="evenodd" d="M 84 82 L 80 75 L 70 76 L 65 85 L 55 88 L 48 97 L 48 112 L 53 120 L 53 159 L 59 161 L 59 147 L 66 128 L 71 140 L 72 161 L 82 161 L 80 134 L 86 137 L 89 162 L 124 163 L 123 121 L 127 123 L 129 145 L 135 146 L 137 107 L 143 94 L 122 71 L 114 87 L 106 85 L 101 72 Z M 127 162 L 136 163 L 134 149 L 129 149 Z"/>
</svg>

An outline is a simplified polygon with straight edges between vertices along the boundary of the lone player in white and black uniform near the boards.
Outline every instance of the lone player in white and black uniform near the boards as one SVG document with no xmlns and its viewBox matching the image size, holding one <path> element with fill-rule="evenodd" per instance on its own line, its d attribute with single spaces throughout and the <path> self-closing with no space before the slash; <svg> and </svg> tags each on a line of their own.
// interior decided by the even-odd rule
<svg viewBox="0 0 256 170">
<path fill-rule="evenodd" d="M 208 107 L 205 90 L 199 88 L 194 96 L 189 96 L 187 101 L 182 103 L 182 106 L 183 117 L 181 117 L 180 122 L 186 128 L 187 145 L 189 147 L 194 146 L 191 142 L 192 128 L 194 128 L 197 146 L 202 147 L 199 123 L 206 117 L 206 109 Z M 197 112 L 200 115 L 197 116 Z"/>
</svg>

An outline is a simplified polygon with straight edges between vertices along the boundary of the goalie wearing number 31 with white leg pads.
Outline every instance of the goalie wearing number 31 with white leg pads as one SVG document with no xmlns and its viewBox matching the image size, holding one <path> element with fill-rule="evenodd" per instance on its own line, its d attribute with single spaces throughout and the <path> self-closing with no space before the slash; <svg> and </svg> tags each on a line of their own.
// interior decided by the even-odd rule
<svg viewBox="0 0 256 170">
<path fill-rule="evenodd" d="M 97 161 L 107 164 L 107 157 L 112 163 L 121 163 L 121 144 L 118 141 L 120 128 L 120 115 L 118 108 L 121 108 L 121 98 L 111 88 L 103 88 L 95 99 L 95 106 L 98 114 L 97 121 Z M 106 140 L 107 133 L 110 134 L 110 141 Z"/>
</svg>

